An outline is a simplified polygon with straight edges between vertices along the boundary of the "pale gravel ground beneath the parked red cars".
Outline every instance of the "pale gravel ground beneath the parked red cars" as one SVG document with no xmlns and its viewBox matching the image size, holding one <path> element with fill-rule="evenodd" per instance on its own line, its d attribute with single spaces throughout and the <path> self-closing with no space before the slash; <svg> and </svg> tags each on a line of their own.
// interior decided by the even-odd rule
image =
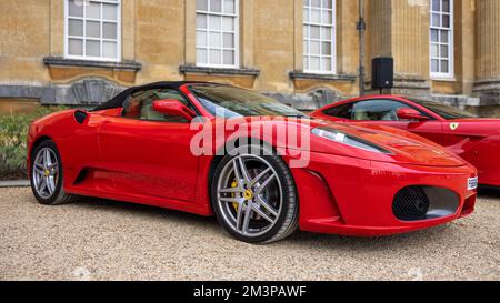
<svg viewBox="0 0 500 303">
<path fill-rule="evenodd" d="M 379 239 L 237 242 L 214 219 L 0 189 L 0 280 L 500 280 L 500 191 L 446 226 Z"/>
</svg>

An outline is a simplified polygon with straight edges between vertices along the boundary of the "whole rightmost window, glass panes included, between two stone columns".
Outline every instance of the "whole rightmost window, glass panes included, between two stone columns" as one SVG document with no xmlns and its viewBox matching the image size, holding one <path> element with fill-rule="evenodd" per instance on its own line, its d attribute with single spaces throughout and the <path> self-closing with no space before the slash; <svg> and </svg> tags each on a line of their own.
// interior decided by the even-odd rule
<svg viewBox="0 0 500 303">
<path fill-rule="evenodd" d="M 431 0 L 431 77 L 453 77 L 453 0 Z"/>
</svg>

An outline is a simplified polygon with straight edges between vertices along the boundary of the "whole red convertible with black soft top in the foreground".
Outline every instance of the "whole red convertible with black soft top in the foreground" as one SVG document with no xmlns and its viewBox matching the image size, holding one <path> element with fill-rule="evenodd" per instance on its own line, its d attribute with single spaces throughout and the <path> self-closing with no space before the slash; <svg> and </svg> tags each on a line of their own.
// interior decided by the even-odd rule
<svg viewBox="0 0 500 303">
<path fill-rule="evenodd" d="M 299 130 L 302 142 L 283 130 Z M 472 213 L 477 194 L 477 170 L 431 141 L 310 119 L 214 83 L 131 88 L 93 111 L 32 122 L 28 144 L 40 203 L 84 195 L 214 214 L 249 243 L 298 228 L 406 233 Z"/>
</svg>

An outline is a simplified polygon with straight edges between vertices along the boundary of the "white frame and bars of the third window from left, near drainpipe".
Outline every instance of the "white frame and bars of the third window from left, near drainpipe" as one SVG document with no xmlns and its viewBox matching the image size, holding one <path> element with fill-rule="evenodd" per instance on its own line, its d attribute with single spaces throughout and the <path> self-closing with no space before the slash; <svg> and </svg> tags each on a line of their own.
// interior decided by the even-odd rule
<svg viewBox="0 0 500 303">
<path fill-rule="evenodd" d="M 306 52 L 306 50 L 303 50 L 303 54 L 302 54 L 302 60 L 308 60 L 308 67 L 303 69 L 303 71 L 306 73 L 316 73 L 316 74 L 337 74 L 337 0 L 331 0 L 331 9 L 332 9 L 332 23 L 331 23 L 331 71 L 326 71 L 326 70 L 311 70 L 311 55 L 312 57 L 317 57 L 311 54 L 310 52 Z M 302 9 L 309 9 L 309 18 L 311 18 L 311 10 L 312 8 L 309 6 L 309 8 L 306 8 L 304 4 L 302 4 Z M 322 11 L 323 9 L 321 9 Z M 321 21 L 322 21 L 322 13 L 321 13 Z M 309 32 L 307 33 L 307 40 L 308 40 L 308 49 L 309 51 L 311 50 L 311 32 L 310 32 L 310 26 L 317 26 L 320 28 L 326 27 L 326 24 L 321 23 L 313 23 L 311 22 L 311 20 L 309 19 L 309 22 L 306 22 L 306 18 L 303 18 L 303 27 L 308 27 Z M 320 39 L 313 39 L 314 41 L 319 41 L 320 42 L 320 65 L 322 64 L 322 59 L 324 58 L 322 54 L 322 42 L 324 40 L 322 40 L 322 30 L 320 30 Z M 306 33 L 303 33 L 302 37 L 302 43 L 306 42 Z"/>
</svg>

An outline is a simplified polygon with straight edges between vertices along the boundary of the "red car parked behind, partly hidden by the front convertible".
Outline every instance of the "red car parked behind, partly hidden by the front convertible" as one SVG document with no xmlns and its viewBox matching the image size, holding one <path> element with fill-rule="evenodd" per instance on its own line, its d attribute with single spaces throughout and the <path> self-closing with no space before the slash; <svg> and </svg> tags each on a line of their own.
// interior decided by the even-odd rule
<svg viewBox="0 0 500 303">
<path fill-rule="evenodd" d="M 351 99 L 311 115 L 370 128 L 393 127 L 419 134 L 474 165 L 480 184 L 500 186 L 500 119 L 480 119 L 443 103 L 394 95 Z"/>
</svg>

